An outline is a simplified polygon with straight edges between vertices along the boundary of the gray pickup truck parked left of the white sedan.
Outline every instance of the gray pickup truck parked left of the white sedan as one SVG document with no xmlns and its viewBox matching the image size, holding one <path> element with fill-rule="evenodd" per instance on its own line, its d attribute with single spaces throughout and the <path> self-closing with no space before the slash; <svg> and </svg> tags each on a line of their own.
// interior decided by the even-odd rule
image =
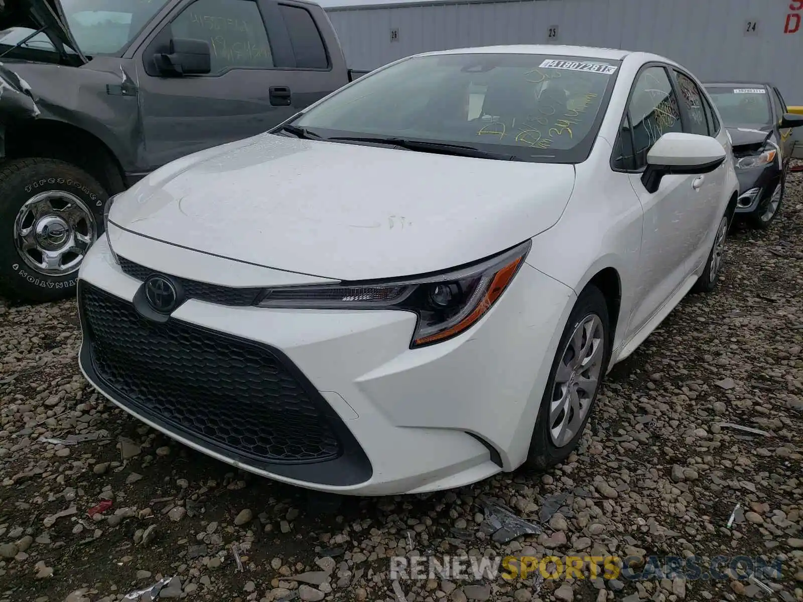
<svg viewBox="0 0 803 602">
<path fill-rule="evenodd" d="M 305 0 L 0 0 L 0 295 L 73 295 L 109 196 L 357 76 Z"/>
</svg>

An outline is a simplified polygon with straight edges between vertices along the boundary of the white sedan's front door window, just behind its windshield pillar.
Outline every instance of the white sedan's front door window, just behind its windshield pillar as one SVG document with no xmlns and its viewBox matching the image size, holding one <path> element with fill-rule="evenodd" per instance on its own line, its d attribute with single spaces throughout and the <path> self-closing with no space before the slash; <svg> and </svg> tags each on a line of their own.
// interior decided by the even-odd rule
<svg viewBox="0 0 803 602">
<path fill-rule="evenodd" d="M 682 132 L 678 98 L 663 67 L 647 67 L 633 87 L 626 118 L 619 132 L 617 169 L 646 166 L 647 153 L 666 132 Z M 629 141 L 622 138 L 630 137 Z"/>
</svg>

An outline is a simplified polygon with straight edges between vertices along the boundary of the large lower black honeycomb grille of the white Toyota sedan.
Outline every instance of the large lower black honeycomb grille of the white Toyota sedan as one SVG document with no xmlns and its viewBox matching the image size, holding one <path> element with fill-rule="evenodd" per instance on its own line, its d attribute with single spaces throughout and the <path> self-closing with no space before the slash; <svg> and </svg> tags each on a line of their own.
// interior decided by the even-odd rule
<svg viewBox="0 0 803 602">
<path fill-rule="evenodd" d="M 279 352 L 177 319 L 151 322 L 88 283 L 79 301 L 92 370 L 133 411 L 260 462 L 342 453 L 332 409 Z"/>
</svg>

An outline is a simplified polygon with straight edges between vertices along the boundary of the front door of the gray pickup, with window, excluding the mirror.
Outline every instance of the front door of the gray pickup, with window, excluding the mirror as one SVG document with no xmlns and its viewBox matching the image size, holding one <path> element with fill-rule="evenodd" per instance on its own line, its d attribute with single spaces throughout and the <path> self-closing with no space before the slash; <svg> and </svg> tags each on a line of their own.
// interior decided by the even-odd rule
<svg viewBox="0 0 803 602">
<path fill-rule="evenodd" d="M 255 136 L 296 113 L 286 99 L 274 97 L 280 87 L 289 88 L 291 72 L 275 68 L 275 43 L 265 18 L 270 8 L 258 0 L 182 2 L 142 45 L 134 63 L 145 134 L 143 167 L 156 169 L 190 153 Z M 175 38 L 210 44 L 208 75 L 159 71 L 153 57 Z"/>
</svg>

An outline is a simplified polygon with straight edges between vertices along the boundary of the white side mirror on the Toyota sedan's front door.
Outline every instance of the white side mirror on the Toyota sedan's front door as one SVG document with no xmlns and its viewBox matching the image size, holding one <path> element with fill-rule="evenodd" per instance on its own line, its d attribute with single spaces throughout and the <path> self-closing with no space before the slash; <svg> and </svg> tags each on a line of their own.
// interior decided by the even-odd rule
<svg viewBox="0 0 803 602">
<path fill-rule="evenodd" d="M 647 153 L 642 184 L 647 192 L 654 193 L 664 176 L 711 173 L 726 157 L 724 146 L 711 136 L 666 132 Z"/>
</svg>

